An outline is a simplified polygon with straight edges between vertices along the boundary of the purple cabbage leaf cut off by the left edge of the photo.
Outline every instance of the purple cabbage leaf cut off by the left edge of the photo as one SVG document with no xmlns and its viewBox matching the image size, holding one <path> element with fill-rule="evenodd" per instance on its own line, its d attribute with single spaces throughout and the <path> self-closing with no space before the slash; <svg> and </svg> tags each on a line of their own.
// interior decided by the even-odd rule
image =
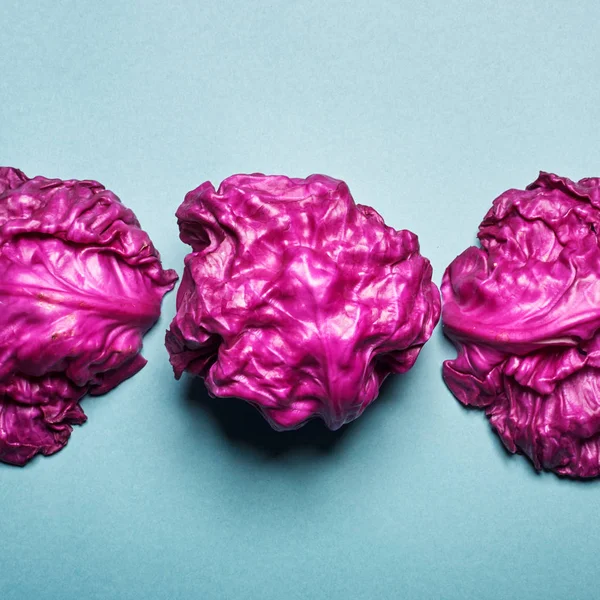
<svg viewBox="0 0 600 600">
<path fill-rule="evenodd" d="M 0 168 L 0 460 L 57 452 L 79 401 L 139 371 L 177 275 L 95 181 Z"/>
</svg>

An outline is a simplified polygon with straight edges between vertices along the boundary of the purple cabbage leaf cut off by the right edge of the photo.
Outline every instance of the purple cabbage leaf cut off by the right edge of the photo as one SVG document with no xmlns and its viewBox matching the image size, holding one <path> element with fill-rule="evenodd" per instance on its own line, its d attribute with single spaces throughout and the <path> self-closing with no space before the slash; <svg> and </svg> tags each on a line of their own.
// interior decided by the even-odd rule
<svg viewBox="0 0 600 600">
<path fill-rule="evenodd" d="M 600 474 L 600 179 L 541 173 L 448 267 L 444 378 L 536 469 Z"/>
</svg>

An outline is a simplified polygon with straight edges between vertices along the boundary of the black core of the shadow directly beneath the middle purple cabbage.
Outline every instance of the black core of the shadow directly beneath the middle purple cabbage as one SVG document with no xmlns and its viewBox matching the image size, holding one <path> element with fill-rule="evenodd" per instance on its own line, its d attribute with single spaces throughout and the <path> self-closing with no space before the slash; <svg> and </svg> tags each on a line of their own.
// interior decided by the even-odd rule
<svg viewBox="0 0 600 600">
<path fill-rule="evenodd" d="M 251 404 L 237 398 L 211 398 L 199 377 L 187 377 L 185 403 L 197 418 L 211 417 L 235 445 L 246 445 L 269 458 L 298 449 L 324 454 L 333 451 L 354 423 L 331 431 L 320 419 L 312 419 L 294 431 L 275 431 Z"/>
</svg>

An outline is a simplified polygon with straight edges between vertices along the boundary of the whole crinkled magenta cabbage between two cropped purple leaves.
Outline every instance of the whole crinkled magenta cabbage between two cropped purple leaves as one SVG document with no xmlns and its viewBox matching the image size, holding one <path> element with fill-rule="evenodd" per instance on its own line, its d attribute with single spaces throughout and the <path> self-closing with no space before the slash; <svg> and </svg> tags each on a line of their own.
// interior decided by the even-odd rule
<svg viewBox="0 0 600 600">
<path fill-rule="evenodd" d="M 177 217 L 193 252 L 166 337 L 175 376 L 251 402 L 275 429 L 358 417 L 439 319 L 417 237 L 342 181 L 234 175 L 187 194 Z"/>
</svg>

